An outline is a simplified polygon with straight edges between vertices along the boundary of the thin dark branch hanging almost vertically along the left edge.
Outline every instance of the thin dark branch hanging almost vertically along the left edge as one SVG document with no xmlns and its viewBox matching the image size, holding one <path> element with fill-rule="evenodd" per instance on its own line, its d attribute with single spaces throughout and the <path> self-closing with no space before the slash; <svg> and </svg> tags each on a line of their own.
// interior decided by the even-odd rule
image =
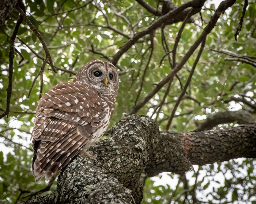
<svg viewBox="0 0 256 204">
<path fill-rule="evenodd" d="M 10 37 L 9 44 L 10 44 L 10 52 L 9 52 L 9 75 L 8 75 L 8 87 L 6 89 L 7 91 L 7 98 L 6 98 L 6 109 L 5 111 L 0 115 L 0 119 L 3 118 L 4 116 L 9 115 L 10 112 L 10 99 L 12 95 L 12 80 L 13 80 L 13 58 L 14 58 L 14 41 L 15 37 L 18 33 L 19 26 L 23 21 L 23 17 L 19 16 L 17 19 L 17 23 L 15 25 L 15 28 L 13 30 L 13 34 Z"/>
</svg>

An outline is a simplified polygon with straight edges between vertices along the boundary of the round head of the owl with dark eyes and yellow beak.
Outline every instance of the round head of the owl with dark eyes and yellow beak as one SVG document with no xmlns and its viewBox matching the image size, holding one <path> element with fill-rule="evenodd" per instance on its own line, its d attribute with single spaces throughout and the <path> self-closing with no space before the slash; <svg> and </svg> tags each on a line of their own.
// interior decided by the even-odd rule
<svg viewBox="0 0 256 204">
<path fill-rule="evenodd" d="M 119 76 L 114 65 L 103 60 L 93 60 L 84 65 L 76 74 L 74 81 L 94 87 L 99 94 L 113 94 L 119 87 Z"/>
</svg>

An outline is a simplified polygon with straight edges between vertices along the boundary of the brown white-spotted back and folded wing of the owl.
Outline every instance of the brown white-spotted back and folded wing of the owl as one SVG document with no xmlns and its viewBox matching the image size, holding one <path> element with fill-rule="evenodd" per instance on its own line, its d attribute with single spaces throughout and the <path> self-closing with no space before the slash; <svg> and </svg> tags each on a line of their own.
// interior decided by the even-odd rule
<svg viewBox="0 0 256 204">
<path fill-rule="evenodd" d="M 44 94 L 31 135 L 35 179 L 45 176 L 48 180 L 77 155 L 106 116 L 106 109 L 94 88 L 78 82 L 58 84 Z"/>
</svg>

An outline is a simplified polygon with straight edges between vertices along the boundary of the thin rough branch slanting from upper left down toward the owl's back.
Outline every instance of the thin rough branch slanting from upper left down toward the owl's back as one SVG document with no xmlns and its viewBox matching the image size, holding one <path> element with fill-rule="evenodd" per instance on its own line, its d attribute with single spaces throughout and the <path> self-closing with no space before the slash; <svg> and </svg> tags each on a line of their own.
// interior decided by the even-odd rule
<svg viewBox="0 0 256 204">
<path fill-rule="evenodd" d="M 24 20 L 26 21 L 26 23 L 28 24 L 29 28 L 31 31 L 33 31 L 33 33 L 37 36 L 37 38 L 39 39 L 39 41 L 42 43 L 42 46 L 45 50 L 45 58 L 49 59 L 50 65 L 52 70 L 57 73 L 57 70 L 54 67 L 51 55 L 49 53 L 49 50 L 46 46 L 45 40 L 42 38 L 41 34 L 38 32 L 38 30 L 35 28 L 35 26 L 30 22 L 30 20 L 28 19 L 28 17 L 26 16 L 26 14 L 23 12 L 23 10 L 18 6 L 17 7 L 18 11 L 20 12 L 20 15 L 24 18 Z"/>
</svg>

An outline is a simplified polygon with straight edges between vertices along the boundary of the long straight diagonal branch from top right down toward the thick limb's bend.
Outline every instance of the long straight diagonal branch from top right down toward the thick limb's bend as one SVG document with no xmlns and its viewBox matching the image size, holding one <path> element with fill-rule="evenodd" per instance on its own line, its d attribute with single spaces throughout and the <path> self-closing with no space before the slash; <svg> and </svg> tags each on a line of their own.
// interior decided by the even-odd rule
<svg viewBox="0 0 256 204">
<path fill-rule="evenodd" d="M 174 77 L 174 75 L 183 67 L 183 65 L 187 62 L 189 57 L 194 53 L 196 48 L 199 46 L 199 44 L 204 40 L 204 38 L 211 32 L 211 30 L 215 27 L 216 22 L 218 21 L 220 15 L 223 11 L 225 11 L 228 7 L 232 6 L 234 4 L 235 0 L 226 0 L 222 1 L 217 8 L 215 14 L 211 17 L 211 20 L 205 27 L 204 31 L 201 33 L 201 35 L 198 37 L 196 42 L 190 47 L 188 52 L 185 54 L 185 56 L 182 58 L 182 60 L 178 63 L 178 65 L 170 72 L 161 82 L 159 82 L 154 90 L 150 92 L 139 104 L 137 104 L 131 111 L 130 114 L 135 114 L 138 110 L 140 110 L 171 78 Z M 190 2 L 191 3 L 191 2 Z M 184 4 L 183 4 L 184 5 Z M 180 8 L 180 7 L 178 7 Z M 176 11 L 177 9 L 175 9 Z M 169 12 L 170 13 L 170 12 Z M 168 13 L 168 14 L 169 14 Z M 165 15 L 164 15 L 165 16 Z M 131 41 L 129 41 L 131 42 Z M 128 42 L 128 43 L 129 43 Z M 125 45 L 124 45 L 125 46 Z M 123 47 L 124 47 L 123 46 Z M 121 50 L 122 48 L 120 48 Z M 120 51 L 119 50 L 119 51 Z M 126 50 L 127 51 L 127 50 Z M 118 53 L 117 53 L 118 54 Z"/>
</svg>

